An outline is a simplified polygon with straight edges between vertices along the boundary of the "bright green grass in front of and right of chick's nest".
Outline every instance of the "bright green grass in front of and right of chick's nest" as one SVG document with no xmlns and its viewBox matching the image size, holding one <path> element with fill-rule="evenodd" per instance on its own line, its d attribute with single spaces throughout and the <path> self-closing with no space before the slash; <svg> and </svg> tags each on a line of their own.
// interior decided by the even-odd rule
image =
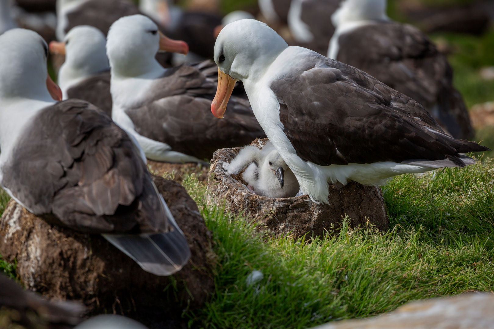
<svg viewBox="0 0 494 329">
<path fill-rule="evenodd" d="M 205 328 L 308 328 L 387 312 L 409 300 L 494 290 L 494 161 L 403 175 L 383 187 L 390 231 L 272 238 L 202 204 L 216 254 L 213 298 L 188 314 Z M 252 270 L 264 278 L 246 283 Z"/>
</svg>

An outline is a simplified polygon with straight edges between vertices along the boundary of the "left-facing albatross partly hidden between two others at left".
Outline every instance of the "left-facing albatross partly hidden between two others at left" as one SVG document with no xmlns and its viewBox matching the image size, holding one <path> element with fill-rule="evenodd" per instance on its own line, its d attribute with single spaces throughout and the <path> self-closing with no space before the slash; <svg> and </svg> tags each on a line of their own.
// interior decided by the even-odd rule
<svg viewBox="0 0 494 329">
<path fill-rule="evenodd" d="M 58 71 L 63 99 L 82 99 L 112 116 L 110 64 L 103 33 L 92 26 L 76 26 L 63 42 L 51 41 L 49 48 L 52 54 L 65 55 Z"/>
</svg>

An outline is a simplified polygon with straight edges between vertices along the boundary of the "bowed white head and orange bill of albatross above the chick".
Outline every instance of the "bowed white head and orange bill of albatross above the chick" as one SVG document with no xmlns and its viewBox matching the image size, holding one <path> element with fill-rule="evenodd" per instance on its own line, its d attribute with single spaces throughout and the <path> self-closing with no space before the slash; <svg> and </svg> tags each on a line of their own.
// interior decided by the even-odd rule
<svg viewBox="0 0 494 329">
<path fill-rule="evenodd" d="M 214 45 L 218 65 L 218 89 L 211 103 L 214 116 L 223 117 L 237 80 L 260 79 L 286 48 L 287 42 L 262 22 L 242 19 L 225 26 Z"/>
</svg>

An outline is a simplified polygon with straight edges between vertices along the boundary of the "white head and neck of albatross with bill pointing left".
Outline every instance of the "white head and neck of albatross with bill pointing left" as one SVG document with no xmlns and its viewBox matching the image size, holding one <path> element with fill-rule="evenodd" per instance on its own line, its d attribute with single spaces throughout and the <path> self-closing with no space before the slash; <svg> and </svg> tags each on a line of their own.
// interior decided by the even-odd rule
<svg viewBox="0 0 494 329">
<path fill-rule="evenodd" d="M 81 25 L 67 33 L 63 42 L 51 41 L 50 52 L 65 55 L 65 62 L 58 72 L 58 85 L 63 99 L 67 90 L 92 75 L 110 70 L 106 57 L 106 38 L 95 27 Z"/>
</svg>

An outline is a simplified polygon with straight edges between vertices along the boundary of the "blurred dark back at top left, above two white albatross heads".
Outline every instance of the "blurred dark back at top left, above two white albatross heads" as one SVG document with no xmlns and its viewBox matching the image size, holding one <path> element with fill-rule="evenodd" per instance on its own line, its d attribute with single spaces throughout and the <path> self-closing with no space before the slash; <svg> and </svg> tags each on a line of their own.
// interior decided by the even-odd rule
<svg viewBox="0 0 494 329">
<path fill-rule="evenodd" d="M 88 0 L 76 10 L 67 13 L 65 33 L 79 25 L 98 28 L 106 36 L 110 26 L 119 18 L 140 14 L 137 6 L 123 0 Z"/>
</svg>

